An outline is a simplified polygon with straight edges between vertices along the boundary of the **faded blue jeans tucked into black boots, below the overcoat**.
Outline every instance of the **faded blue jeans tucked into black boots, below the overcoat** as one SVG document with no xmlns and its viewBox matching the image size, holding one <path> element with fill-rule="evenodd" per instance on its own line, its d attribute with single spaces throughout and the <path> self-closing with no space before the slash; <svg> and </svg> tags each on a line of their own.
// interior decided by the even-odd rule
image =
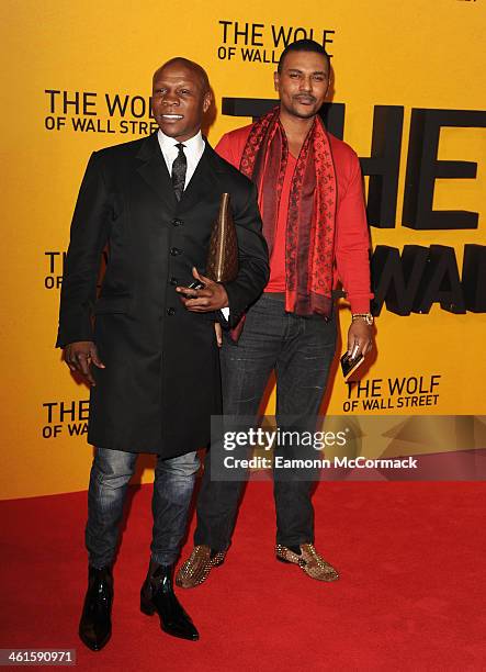
<svg viewBox="0 0 486 672">
<path fill-rule="evenodd" d="M 126 489 L 137 457 L 136 452 L 97 448 L 88 490 L 86 527 L 89 562 L 94 568 L 101 569 L 114 560 Z M 199 467 L 196 452 L 157 459 L 150 551 L 158 564 L 173 564 L 179 556 Z"/>
</svg>

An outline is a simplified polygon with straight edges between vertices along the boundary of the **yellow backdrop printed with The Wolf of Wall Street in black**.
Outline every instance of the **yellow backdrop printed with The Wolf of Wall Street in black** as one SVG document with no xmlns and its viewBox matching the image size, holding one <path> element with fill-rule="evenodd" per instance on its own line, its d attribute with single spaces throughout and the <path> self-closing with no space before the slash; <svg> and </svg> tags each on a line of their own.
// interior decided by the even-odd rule
<svg viewBox="0 0 486 672">
<path fill-rule="evenodd" d="M 1 497 L 87 486 L 89 391 L 54 348 L 70 217 L 91 152 L 156 128 L 151 75 L 179 55 L 210 75 L 213 144 L 273 104 L 289 42 L 332 56 L 326 117 L 362 160 L 377 347 L 360 380 L 335 371 L 327 412 L 484 413 L 486 0 L 303 7 L 1 3 Z"/>
</svg>

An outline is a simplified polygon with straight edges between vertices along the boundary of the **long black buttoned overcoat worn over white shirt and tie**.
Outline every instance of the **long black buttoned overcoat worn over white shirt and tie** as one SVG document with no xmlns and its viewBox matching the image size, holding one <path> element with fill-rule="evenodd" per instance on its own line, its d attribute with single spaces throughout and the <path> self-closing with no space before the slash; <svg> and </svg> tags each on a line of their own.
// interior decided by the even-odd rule
<svg viewBox="0 0 486 672">
<path fill-rule="evenodd" d="M 255 186 L 205 145 L 180 202 L 157 134 L 95 152 L 79 192 L 61 289 L 57 346 L 93 340 L 88 441 L 176 457 L 210 440 L 221 413 L 215 313 L 190 313 L 176 285 L 205 271 L 221 194 L 230 194 L 239 273 L 225 283 L 230 324 L 262 292 L 268 250 Z M 100 259 L 108 265 L 97 299 Z"/>
</svg>

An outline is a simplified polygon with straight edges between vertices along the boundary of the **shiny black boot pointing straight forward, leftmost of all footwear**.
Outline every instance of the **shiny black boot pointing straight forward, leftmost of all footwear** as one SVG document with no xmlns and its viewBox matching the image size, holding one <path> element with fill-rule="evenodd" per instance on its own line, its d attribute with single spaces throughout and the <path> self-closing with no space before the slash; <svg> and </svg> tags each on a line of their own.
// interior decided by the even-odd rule
<svg viewBox="0 0 486 672">
<path fill-rule="evenodd" d="M 113 574 L 110 567 L 89 568 L 79 637 L 92 651 L 100 651 L 112 634 Z"/>
</svg>

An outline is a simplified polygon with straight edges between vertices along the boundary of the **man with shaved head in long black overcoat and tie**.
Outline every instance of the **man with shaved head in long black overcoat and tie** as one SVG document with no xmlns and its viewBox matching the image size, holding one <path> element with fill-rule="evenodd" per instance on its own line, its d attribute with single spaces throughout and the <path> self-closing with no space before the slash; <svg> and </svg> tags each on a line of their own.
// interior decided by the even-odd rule
<svg viewBox="0 0 486 672">
<path fill-rule="evenodd" d="M 256 189 L 201 134 L 212 102 L 203 68 L 174 58 L 154 75 L 159 131 L 93 153 L 71 225 L 57 346 L 91 385 L 88 440 L 95 446 L 88 492 L 89 583 L 79 626 L 101 649 L 111 635 L 112 564 L 137 455 L 156 453 L 154 533 L 140 608 L 161 628 L 197 639 L 172 589 L 195 474 L 196 450 L 221 413 L 215 320 L 229 325 L 268 281 Z M 204 276 L 221 194 L 230 194 L 239 272 Z M 99 296 L 100 259 L 108 265 Z M 201 273 L 201 275 L 200 275 Z M 204 288 L 178 293 L 194 279 Z"/>
</svg>

